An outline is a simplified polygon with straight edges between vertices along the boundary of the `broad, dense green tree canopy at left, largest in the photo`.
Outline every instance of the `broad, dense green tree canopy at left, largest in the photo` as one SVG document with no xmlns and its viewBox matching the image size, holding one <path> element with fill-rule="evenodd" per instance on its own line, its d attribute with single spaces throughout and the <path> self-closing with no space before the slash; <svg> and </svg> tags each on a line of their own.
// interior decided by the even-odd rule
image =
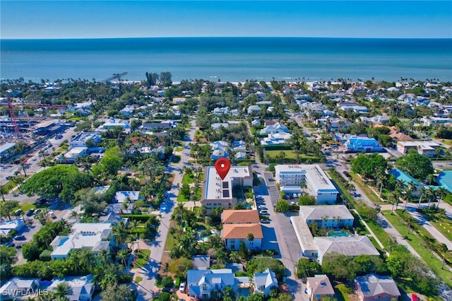
<svg viewBox="0 0 452 301">
<path fill-rule="evenodd" d="M 78 189 L 90 187 L 93 179 L 73 165 L 55 165 L 32 175 L 23 189 L 28 196 L 59 196 L 64 201 L 73 199 Z"/>
</svg>

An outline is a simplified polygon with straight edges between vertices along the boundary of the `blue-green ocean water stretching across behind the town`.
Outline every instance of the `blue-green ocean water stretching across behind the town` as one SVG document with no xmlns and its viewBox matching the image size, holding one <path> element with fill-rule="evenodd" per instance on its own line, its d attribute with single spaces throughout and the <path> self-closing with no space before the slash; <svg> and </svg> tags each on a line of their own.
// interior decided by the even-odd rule
<svg viewBox="0 0 452 301">
<path fill-rule="evenodd" d="M 141 81 L 169 71 L 173 81 L 351 78 L 452 81 L 452 39 L 177 37 L 0 40 L 0 77 L 40 81 L 113 73 Z"/>
</svg>

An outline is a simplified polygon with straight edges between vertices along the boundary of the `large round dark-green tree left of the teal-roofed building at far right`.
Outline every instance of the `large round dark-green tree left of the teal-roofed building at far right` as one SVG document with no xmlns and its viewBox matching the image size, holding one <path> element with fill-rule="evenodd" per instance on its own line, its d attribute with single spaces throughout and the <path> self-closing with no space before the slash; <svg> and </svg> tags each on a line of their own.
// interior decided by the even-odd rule
<svg viewBox="0 0 452 301">
<path fill-rule="evenodd" d="M 417 151 L 412 151 L 398 158 L 396 160 L 396 167 L 420 181 L 423 181 L 428 175 L 434 173 L 432 160 L 425 155 L 417 153 Z"/>
</svg>

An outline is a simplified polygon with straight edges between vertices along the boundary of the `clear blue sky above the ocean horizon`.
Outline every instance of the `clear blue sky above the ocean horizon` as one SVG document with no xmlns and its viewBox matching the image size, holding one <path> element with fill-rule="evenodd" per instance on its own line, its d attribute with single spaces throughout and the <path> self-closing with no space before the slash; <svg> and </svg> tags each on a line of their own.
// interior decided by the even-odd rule
<svg viewBox="0 0 452 301">
<path fill-rule="evenodd" d="M 1 38 L 448 37 L 452 1 L 0 1 Z"/>
</svg>

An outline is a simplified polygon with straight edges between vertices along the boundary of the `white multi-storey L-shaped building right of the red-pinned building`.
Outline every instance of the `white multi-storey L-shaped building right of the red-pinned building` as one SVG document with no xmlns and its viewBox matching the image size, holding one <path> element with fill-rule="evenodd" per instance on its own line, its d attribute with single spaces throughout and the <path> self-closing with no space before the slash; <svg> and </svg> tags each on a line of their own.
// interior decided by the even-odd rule
<svg viewBox="0 0 452 301">
<path fill-rule="evenodd" d="M 302 183 L 316 198 L 316 203 L 334 203 L 339 191 L 319 165 L 276 165 L 275 180 L 285 193 L 299 193 Z"/>
</svg>

